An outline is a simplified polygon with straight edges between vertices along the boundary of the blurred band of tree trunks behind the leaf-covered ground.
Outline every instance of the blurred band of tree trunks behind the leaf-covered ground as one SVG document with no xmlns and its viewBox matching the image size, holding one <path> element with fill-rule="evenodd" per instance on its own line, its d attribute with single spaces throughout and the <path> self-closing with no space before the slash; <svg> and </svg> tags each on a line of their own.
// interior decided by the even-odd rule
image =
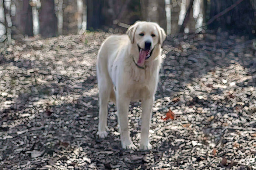
<svg viewBox="0 0 256 170">
<path fill-rule="evenodd" d="M 255 36 L 256 0 L 0 0 L 0 42 L 103 30 L 124 33 L 137 20 L 168 35 L 229 31 Z"/>
</svg>

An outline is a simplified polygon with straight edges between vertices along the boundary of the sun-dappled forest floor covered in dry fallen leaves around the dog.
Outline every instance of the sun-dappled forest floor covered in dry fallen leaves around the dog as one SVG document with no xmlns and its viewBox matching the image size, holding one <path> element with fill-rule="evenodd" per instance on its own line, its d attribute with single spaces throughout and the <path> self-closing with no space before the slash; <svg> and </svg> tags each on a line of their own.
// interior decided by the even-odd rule
<svg viewBox="0 0 256 170">
<path fill-rule="evenodd" d="M 256 169 L 253 42 L 226 32 L 167 37 L 147 152 L 120 148 L 116 108 L 98 126 L 96 56 L 109 33 L 0 47 L 0 170 Z M 166 113 L 170 118 L 166 120 Z M 138 146 L 140 102 L 129 109 Z"/>
</svg>

